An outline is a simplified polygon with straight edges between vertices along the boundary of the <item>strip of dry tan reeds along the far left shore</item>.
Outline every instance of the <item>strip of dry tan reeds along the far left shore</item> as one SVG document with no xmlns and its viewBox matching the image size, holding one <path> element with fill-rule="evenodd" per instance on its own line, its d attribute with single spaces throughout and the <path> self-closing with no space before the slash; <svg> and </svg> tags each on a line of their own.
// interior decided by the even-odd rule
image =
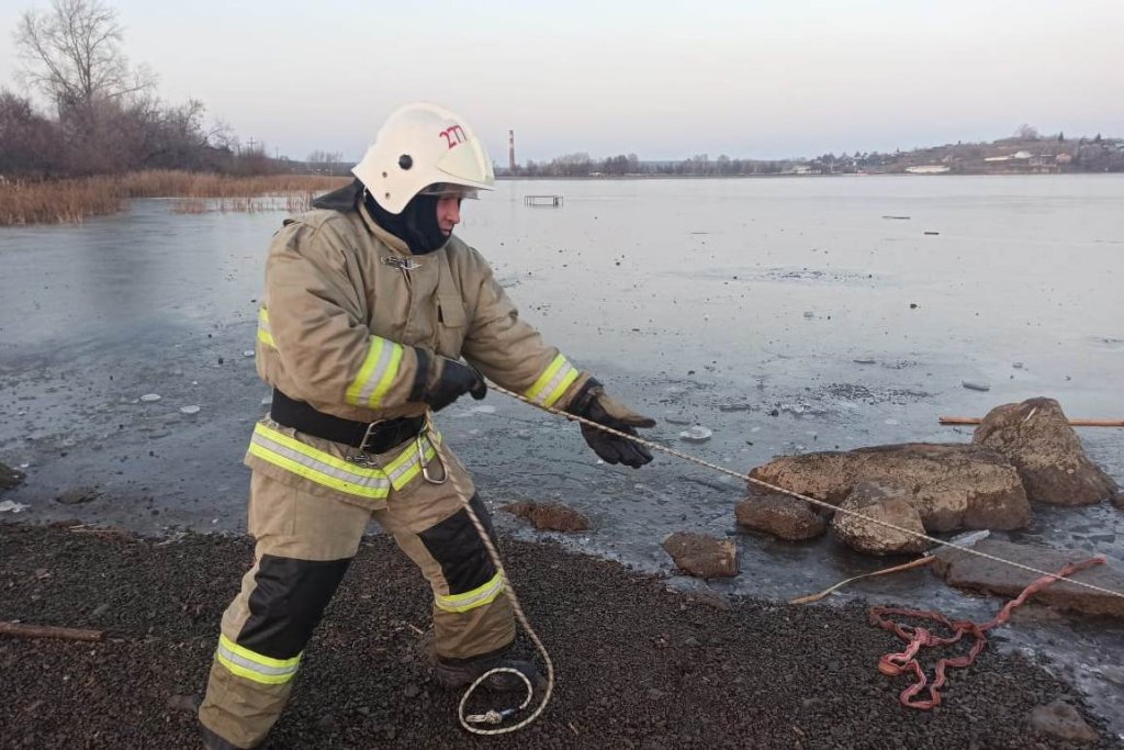
<svg viewBox="0 0 1124 750">
<path fill-rule="evenodd" d="M 312 196 L 345 184 L 350 177 L 268 174 L 230 177 L 151 170 L 115 177 L 45 182 L 0 182 L 0 226 L 79 223 L 116 214 L 129 198 L 178 198 L 172 210 L 254 211 L 308 208 Z"/>
</svg>

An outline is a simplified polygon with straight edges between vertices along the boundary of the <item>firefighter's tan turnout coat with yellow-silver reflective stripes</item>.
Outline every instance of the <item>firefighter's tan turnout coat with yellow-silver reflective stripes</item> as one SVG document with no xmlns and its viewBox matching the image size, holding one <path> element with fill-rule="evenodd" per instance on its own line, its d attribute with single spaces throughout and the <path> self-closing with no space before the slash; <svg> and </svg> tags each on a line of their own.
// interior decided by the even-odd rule
<svg viewBox="0 0 1124 750">
<path fill-rule="evenodd" d="M 346 419 L 416 416 L 425 404 L 409 397 L 427 373 L 418 372 L 414 347 L 463 355 L 500 386 L 556 408 L 589 377 L 519 318 L 488 262 L 456 236 L 413 255 L 362 205 L 285 220 L 270 246 L 259 311 L 265 382 Z M 411 441 L 356 455 L 265 418 L 246 463 L 306 491 L 378 508 L 390 488 L 417 481 L 418 452 Z M 432 459 L 433 446 L 423 452 Z"/>
</svg>

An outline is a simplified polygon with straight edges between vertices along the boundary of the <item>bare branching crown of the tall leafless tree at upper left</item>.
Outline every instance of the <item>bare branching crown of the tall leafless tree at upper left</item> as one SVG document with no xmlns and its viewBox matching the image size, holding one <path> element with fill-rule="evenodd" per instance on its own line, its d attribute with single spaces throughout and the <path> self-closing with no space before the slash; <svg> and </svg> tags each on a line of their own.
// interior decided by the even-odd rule
<svg viewBox="0 0 1124 750">
<path fill-rule="evenodd" d="M 154 76 L 133 70 L 121 51 L 117 13 L 101 0 L 52 0 L 47 11 L 28 10 L 15 40 L 24 81 L 38 89 L 60 116 L 89 116 L 98 101 L 151 90 Z"/>
</svg>

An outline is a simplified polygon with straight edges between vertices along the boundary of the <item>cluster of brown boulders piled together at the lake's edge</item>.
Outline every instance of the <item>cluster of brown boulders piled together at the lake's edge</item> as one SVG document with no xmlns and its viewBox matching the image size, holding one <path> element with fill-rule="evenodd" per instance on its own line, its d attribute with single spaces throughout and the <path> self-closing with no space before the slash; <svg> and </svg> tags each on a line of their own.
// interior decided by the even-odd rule
<svg viewBox="0 0 1124 750">
<path fill-rule="evenodd" d="M 899 530 L 1022 528 L 1031 521 L 1032 501 L 1077 506 L 1113 498 L 1124 507 L 1116 482 L 1088 459 L 1061 406 L 1050 398 L 992 409 L 971 444 L 909 443 L 782 457 L 750 477 L 822 504 L 763 491 L 751 482 L 750 497 L 736 509 L 741 526 L 803 540 L 824 533 L 830 518 L 843 542 L 871 554 L 927 546 Z"/>
</svg>

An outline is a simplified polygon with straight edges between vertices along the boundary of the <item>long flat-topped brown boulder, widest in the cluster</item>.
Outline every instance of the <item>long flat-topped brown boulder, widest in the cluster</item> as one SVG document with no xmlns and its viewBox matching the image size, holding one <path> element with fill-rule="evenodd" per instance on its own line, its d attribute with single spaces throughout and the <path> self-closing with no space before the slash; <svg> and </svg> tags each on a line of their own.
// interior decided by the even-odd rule
<svg viewBox="0 0 1124 750">
<path fill-rule="evenodd" d="M 863 480 L 908 488 L 909 504 L 930 533 L 1007 531 L 1031 521 L 1018 472 L 984 445 L 906 443 L 786 455 L 756 467 L 750 477 L 832 505 Z"/>
</svg>

